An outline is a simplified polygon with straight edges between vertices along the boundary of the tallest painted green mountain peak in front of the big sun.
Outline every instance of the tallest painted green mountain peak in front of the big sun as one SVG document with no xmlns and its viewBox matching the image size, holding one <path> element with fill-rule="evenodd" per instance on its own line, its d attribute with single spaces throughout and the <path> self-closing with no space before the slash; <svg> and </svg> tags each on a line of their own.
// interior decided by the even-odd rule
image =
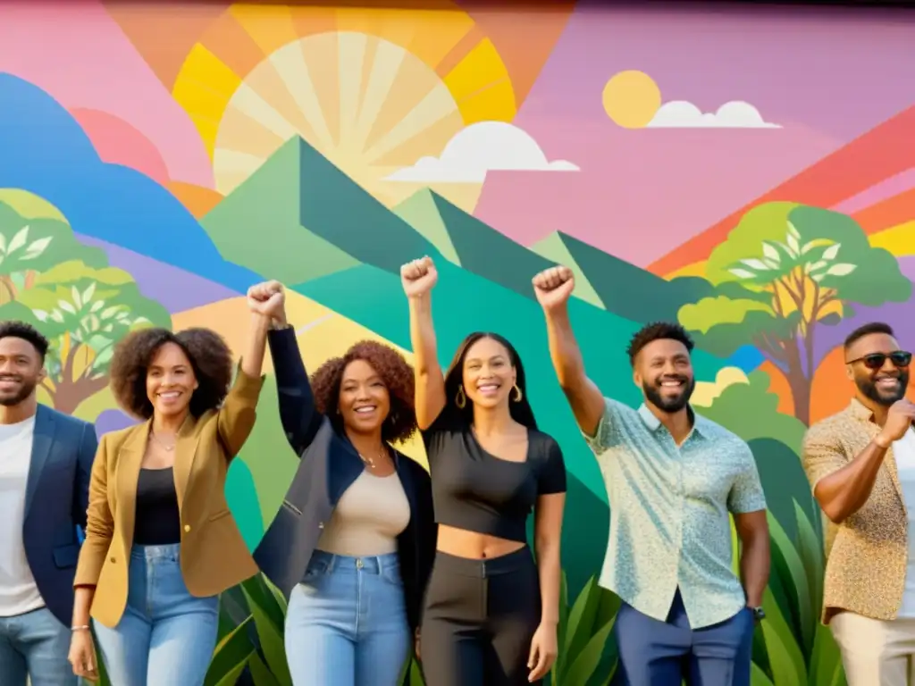
<svg viewBox="0 0 915 686">
<path fill-rule="evenodd" d="M 200 224 L 222 256 L 301 284 L 360 263 L 399 273 L 431 242 L 295 136 Z"/>
</svg>

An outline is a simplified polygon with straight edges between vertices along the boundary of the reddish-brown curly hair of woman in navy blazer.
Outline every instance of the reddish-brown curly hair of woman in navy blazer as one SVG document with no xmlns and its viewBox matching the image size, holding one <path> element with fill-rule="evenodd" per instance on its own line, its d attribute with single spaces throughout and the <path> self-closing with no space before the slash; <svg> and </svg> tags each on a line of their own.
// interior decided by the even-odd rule
<svg viewBox="0 0 915 686">
<path fill-rule="evenodd" d="M 337 412 L 343 370 L 350 362 L 362 359 L 382 378 L 391 397 L 391 411 L 382 423 L 382 440 L 402 443 L 416 431 L 413 368 L 394 348 L 374 340 L 355 343 L 342 357 L 328 359 L 311 376 L 318 412 L 326 415 L 338 431 L 343 430 Z"/>
</svg>

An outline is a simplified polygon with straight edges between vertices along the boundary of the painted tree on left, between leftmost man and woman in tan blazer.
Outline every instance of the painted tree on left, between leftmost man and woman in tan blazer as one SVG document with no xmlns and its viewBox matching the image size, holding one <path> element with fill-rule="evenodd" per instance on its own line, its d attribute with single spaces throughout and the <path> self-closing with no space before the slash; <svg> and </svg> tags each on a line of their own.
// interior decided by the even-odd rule
<svg viewBox="0 0 915 686">
<path fill-rule="evenodd" d="M 136 327 L 170 327 L 171 317 L 114 267 L 73 260 L 39 273 L 19 295 L 51 340 L 45 389 L 55 409 L 72 413 L 108 383 L 114 345 Z"/>
</svg>

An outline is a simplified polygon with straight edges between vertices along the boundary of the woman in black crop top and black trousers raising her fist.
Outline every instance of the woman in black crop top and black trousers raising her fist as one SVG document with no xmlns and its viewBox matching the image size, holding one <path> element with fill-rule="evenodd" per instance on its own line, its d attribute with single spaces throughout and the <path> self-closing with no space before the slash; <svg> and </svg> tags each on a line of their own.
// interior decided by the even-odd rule
<svg viewBox="0 0 915 686">
<path fill-rule="evenodd" d="M 436 360 L 428 257 L 404 264 L 423 434 L 438 523 L 420 635 L 430 686 L 538 683 L 553 666 L 565 464 L 537 431 L 517 351 L 498 334 Z M 536 563 L 526 523 L 534 512 Z"/>
</svg>

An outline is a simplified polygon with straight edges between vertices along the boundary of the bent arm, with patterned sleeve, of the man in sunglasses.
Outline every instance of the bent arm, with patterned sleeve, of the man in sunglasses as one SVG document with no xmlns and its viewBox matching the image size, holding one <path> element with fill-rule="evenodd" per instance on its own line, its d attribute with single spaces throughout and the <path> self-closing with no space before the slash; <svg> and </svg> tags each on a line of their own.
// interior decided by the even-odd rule
<svg viewBox="0 0 915 686">
<path fill-rule="evenodd" d="M 841 524 L 864 507 L 889 446 L 909 430 L 913 419 L 915 404 L 905 399 L 894 403 L 880 432 L 851 459 L 827 425 L 813 426 L 807 431 L 803 440 L 803 468 L 813 488 L 813 497 L 826 517 Z"/>
</svg>

